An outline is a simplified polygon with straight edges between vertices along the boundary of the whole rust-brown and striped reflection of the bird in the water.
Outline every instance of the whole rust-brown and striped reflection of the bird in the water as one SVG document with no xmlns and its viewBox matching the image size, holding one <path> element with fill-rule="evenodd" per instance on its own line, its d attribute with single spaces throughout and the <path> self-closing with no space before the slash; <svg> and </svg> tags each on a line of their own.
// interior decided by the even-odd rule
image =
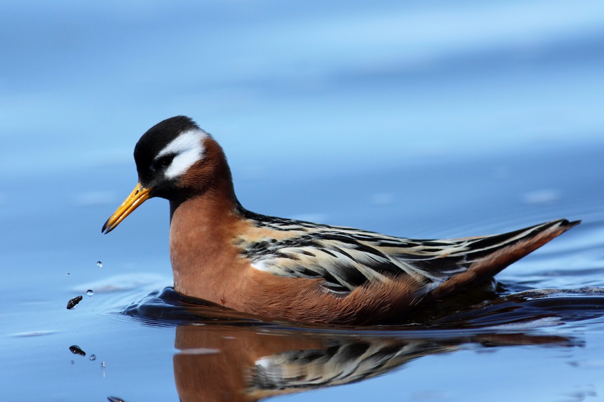
<svg viewBox="0 0 604 402">
<path fill-rule="evenodd" d="M 174 356 L 176 389 L 182 402 L 257 401 L 291 392 L 358 382 L 384 374 L 410 360 L 458 350 L 504 345 L 570 345 L 560 336 L 469 334 L 443 337 L 443 331 L 288 330 L 232 325 L 180 325 Z M 432 335 L 432 336 L 430 336 Z"/>
</svg>

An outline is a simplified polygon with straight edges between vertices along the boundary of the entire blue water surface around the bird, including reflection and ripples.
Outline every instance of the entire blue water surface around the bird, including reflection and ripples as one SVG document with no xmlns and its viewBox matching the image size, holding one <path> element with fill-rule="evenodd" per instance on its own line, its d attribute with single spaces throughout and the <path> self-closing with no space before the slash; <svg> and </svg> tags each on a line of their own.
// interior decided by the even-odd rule
<svg viewBox="0 0 604 402">
<path fill-rule="evenodd" d="M 602 398 L 604 7 L 397 3 L 0 5 L 0 400 Z M 177 114 L 255 212 L 418 238 L 583 224 L 398 325 L 220 311 L 170 291 L 164 200 L 100 233 L 134 143 Z"/>
</svg>

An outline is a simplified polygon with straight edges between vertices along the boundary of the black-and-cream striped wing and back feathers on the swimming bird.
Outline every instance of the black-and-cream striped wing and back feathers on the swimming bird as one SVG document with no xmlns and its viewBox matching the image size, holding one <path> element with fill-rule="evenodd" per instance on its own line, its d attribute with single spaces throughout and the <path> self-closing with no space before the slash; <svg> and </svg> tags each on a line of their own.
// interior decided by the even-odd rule
<svg viewBox="0 0 604 402">
<path fill-rule="evenodd" d="M 255 269 L 283 277 L 322 278 L 326 289 L 341 295 L 368 281 L 405 276 L 431 291 L 496 250 L 544 230 L 574 224 L 559 219 L 492 236 L 417 240 L 254 213 L 247 218 L 279 234 L 278 240 L 267 237 L 239 245 Z"/>
</svg>

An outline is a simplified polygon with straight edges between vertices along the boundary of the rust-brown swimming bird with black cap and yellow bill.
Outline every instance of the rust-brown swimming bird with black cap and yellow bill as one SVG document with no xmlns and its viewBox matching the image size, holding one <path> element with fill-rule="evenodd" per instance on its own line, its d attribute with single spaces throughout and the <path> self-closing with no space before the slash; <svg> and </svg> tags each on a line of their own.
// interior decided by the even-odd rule
<svg viewBox="0 0 604 402">
<path fill-rule="evenodd" d="M 503 234 L 426 240 L 261 215 L 239 203 L 222 147 L 187 116 L 147 130 L 134 160 L 138 183 L 102 232 L 147 199 L 167 199 L 175 291 L 270 319 L 404 319 L 491 280 L 580 223 L 556 219 Z"/>
</svg>

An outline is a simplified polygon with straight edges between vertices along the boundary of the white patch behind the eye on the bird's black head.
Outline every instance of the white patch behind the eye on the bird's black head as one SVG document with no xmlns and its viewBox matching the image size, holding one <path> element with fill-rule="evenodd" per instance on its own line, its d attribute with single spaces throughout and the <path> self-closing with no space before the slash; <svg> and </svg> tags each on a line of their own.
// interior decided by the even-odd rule
<svg viewBox="0 0 604 402">
<path fill-rule="evenodd" d="M 181 135 L 172 140 L 155 157 L 155 160 L 164 155 L 176 154 L 170 166 L 165 169 L 166 178 L 175 178 L 183 174 L 204 156 L 204 144 L 202 140 L 208 136 L 204 130 L 183 131 Z"/>
</svg>

